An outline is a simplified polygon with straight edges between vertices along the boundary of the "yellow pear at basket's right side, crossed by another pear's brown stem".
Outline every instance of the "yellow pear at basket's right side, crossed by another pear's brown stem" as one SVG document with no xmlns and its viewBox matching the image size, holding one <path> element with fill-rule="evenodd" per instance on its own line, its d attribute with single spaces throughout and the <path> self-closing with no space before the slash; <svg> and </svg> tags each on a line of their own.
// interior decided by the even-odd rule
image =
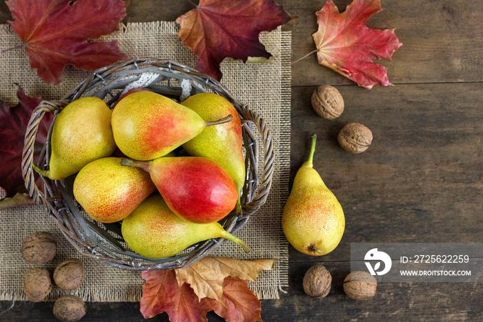
<svg viewBox="0 0 483 322">
<path fill-rule="evenodd" d="M 182 102 L 199 114 L 202 119 L 219 119 L 231 114 L 233 120 L 217 126 L 204 128 L 195 138 L 183 144 L 183 148 L 195 157 L 217 161 L 237 186 L 238 195 L 245 184 L 245 159 L 243 157 L 242 122 L 233 105 L 213 93 L 199 93 Z M 237 210 L 241 211 L 238 201 Z"/>
</svg>

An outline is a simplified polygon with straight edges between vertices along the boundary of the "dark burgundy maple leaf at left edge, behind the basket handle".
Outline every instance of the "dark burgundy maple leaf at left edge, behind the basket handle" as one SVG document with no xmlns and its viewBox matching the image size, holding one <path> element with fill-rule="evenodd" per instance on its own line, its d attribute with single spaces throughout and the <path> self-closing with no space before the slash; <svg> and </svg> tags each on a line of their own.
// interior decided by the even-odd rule
<svg viewBox="0 0 483 322">
<path fill-rule="evenodd" d="M 13 108 L 0 101 L 0 186 L 7 192 L 6 197 L 13 197 L 17 192 L 27 192 L 21 173 L 23 139 L 28 121 L 34 108 L 41 102 L 40 97 L 28 97 L 23 89 L 17 90 L 19 104 Z M 45 114 L 37 130 L 34 144 L 34 159 L 46 143 L 52 114 Z M 41 180 L 37 182 L 40 186 Z"/>
</svg>

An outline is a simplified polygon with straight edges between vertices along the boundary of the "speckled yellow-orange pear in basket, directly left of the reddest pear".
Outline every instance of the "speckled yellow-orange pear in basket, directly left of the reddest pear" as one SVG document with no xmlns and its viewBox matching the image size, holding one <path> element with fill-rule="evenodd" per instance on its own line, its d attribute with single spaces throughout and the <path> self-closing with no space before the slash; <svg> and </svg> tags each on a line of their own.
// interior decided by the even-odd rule
<svg viewBox="0 0 483 322">
<path fill-rule="evenodd" d="M 83 167 L 75 177 L 73 190 L 92 219 L 114 223 L 126 218 L 156 186 L 148 172 L 124 167 L 121 158 L 108 157 Z"/>
</svg>

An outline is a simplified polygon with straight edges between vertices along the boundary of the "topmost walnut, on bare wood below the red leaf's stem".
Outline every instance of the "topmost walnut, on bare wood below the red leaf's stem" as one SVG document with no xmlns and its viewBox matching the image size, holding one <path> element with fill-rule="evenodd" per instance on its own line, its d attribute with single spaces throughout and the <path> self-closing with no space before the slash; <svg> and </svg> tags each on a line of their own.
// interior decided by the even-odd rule
<svg viewBox="0 0 483 322">
<path fill-rule="evenodd" d="M 326 119 L 336 119 L 344 112 L 344 99 L 337 88 L 321 85 L 312 94 L 312 107 Z"/>
</svg>

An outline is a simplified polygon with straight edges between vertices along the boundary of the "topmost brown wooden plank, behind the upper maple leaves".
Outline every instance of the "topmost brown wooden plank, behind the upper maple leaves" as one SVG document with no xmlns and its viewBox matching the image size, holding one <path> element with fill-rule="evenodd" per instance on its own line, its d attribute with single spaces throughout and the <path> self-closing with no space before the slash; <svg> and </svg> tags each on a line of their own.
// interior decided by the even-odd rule
<svg viewBox="0 0 483 322">
<path fill-rule="evenodd" d="M 166 20 L 193 9 L 189 1 L 132 0 L 124 22 Z M 298 16 L 284 30 L 293 33 L 293 61 L 315 50 L 312 34 L 317 31 L 315 12 L 324 1 L 279 0 L 286 11 Z M 334 1 L 340 11 L 351 0 Z M 483 3 L 481 1 L 382 1 L 382 12 L 368 21 L 372 28 L 395 28 L 404 45 L 393 61 L 382 60 L 393 83 L 440 83 L 483 81 Z M 0 23 L 10 12 L 5 1 L 0 4 Z M 345 77 L 317 64 L 316 55 L 293 66 L 293 85 L 354 84 Z"/>
</svg>

